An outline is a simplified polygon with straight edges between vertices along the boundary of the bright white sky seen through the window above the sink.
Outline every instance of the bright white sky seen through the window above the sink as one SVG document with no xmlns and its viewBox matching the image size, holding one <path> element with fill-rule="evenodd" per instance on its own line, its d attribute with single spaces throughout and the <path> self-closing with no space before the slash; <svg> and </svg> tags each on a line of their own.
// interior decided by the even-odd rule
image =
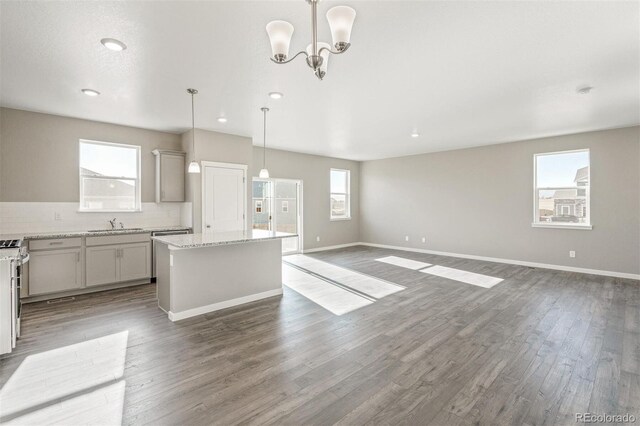
<svg viewBox="0 0 640 426">
<path fill-rule="evenodd" d="M 80 142 L 80 167 L 105 176 L 138 177 L 136 147 Z"/>
</svg>

